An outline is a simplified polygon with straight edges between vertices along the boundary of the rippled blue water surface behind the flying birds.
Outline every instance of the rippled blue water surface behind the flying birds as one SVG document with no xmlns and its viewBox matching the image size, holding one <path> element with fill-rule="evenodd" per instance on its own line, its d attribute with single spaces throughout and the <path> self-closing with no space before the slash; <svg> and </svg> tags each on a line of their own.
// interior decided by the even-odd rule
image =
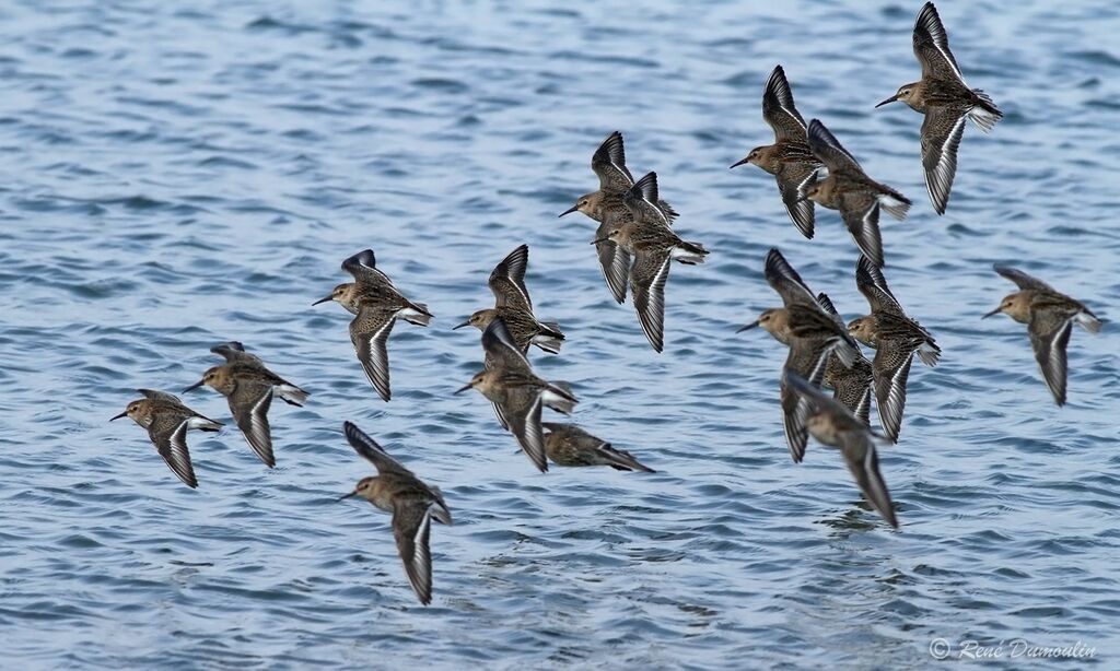
<svg viewBox="0 0 1120 671">
<path fill-rule="evenodd" d="M 917 77 L 917 1 L 175 4 L 0 8 L 0 665 L 899 669 L 936 637 L 1080 641 L 1120 664 L 1114 329 L 1074 332 L 1057 408 L 1025 329 L 979 319 L 1014 289 L 992 262 L 1118 313 L 1116 7 L 942 3 L 1006 117 L 965 131 L 937 217 L 921 117 L 872 110 Z M 915 201 L 884 219 L 886 273 L 944 357 L 915 363 L 881 452 L 900 532 L 834 452 L 791 463 L 785 350 L 735 334 L 777 304 L 772 246 L 866 310 L 836 212 L 805 240 L 769 176 L 727 169 L 771 140 L 777 63 L 806 119 Z M 556 218 L 616 129 L 711 251 L 672 270 L 663 355 L 610 300 L 594 224 Z M 659 473 L 539 474 L 480 396 L 451 394 L 482 361 L 451 327 L 521 243 L 538 314 L 569 337 L 539 372 Z M 349 315 L 310 306 L 364 247 L 437 315 L 394 330 L 390 404 Z M 312 396 L 273 404 L 272 471 L 232 427 L 192 434 L 192 491 L 108 419 L 230 339 Z M 212 391 L 185 400 L 228 418 Z M 344 419 L 455 513 L 427 608 L 388 518 L 334 502 L 371 473 Z"/>
</svg>

